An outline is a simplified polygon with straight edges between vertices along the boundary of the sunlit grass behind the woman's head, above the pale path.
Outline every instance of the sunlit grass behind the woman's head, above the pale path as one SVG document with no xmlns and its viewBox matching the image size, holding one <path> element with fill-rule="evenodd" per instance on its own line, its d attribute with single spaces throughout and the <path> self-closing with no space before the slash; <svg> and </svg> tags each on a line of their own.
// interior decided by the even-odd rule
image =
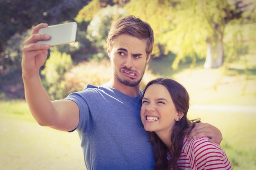
<svg viewBox="0 0 256 170">
<path fill-rule="evenodd" d="M 174 71 L 169 60 L 151 60 L 148 69 L 183 84 L 191 104 L 256 106 L 256 54 L 227 65 L 228 69 L 204 69 L 203 62 L 198 62 L 193 69 L 189 64 L 181 64 L 180 69 Z"/>
</svg>

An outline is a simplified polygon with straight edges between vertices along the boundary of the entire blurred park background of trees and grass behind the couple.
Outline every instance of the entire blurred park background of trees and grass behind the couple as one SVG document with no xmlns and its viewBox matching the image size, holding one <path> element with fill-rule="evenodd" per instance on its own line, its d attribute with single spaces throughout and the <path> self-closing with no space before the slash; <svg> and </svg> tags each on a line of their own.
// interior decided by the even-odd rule
<svg viewBox="0 0 256 170">
<path fill-rule="evenodd" d="M 41 127 L 29 113 L 21 58 L 31 28 L 78 24 L 76 42 L 51 47 L 40 72 L 51 99 L 63 99 L 108 82 L 108 31 L 130 14 L 155 33 L 141 89 L 156 77 L 182 83 L 190 117 L 222 131 L 234 170 L 256 170 L 255 0 L 0 0 L 0 14 L 0 169 L 86 169 L 76 132 Z"/>
</svg>

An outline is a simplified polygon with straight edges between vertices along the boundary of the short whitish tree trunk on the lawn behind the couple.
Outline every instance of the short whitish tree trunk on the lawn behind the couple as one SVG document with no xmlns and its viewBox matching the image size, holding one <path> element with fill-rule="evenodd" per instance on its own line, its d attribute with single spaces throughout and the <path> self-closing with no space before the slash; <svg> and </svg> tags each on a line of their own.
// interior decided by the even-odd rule
<svg viewBox="0 0 256 170">
<path fill-rule="evenodd" d="M 223 44 L 218 41 L 216 45 L 207 43 L 207 55 L 204 68 L 218 68 L 223 64 Z"/>
</svg>

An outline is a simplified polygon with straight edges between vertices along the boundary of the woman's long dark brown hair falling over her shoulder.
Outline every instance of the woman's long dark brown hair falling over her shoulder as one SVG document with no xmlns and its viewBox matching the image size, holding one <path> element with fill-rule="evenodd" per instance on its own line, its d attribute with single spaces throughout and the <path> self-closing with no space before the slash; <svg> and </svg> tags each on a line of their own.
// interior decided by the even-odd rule
<svg viewBox="0 0 256 170">
<path fill-rule="evenodd" d="M 148 82 L 144 93 L 148 86 L 152 84 L 164 85 L 168 89 L 177 111 L 184 113 L 184 116 L 179 121 L 175 121 L 175 125 L 173 126 L 171 133 L 171 149 L 164 145 L 155 132 L 149 132 L 150 143 L 152 144 L 155 153 L 155 170 L 180 170 L 177 160 L 180 157 L 180 152 L 182 150 L 184 135 L 187 135 L 195 126 L 195 123 L 200 122 L 200 119 L 187 119 L 187 112 L 189 110 L 189 94 L 182 84 L 173 79 L 157 78 Z M 144 94 L 141 99 L 143 96 Z M 171 150 L 171 152 L 168 150 Z M 170 155 L 169 160 L 167 155 Z"/>
</svg>

